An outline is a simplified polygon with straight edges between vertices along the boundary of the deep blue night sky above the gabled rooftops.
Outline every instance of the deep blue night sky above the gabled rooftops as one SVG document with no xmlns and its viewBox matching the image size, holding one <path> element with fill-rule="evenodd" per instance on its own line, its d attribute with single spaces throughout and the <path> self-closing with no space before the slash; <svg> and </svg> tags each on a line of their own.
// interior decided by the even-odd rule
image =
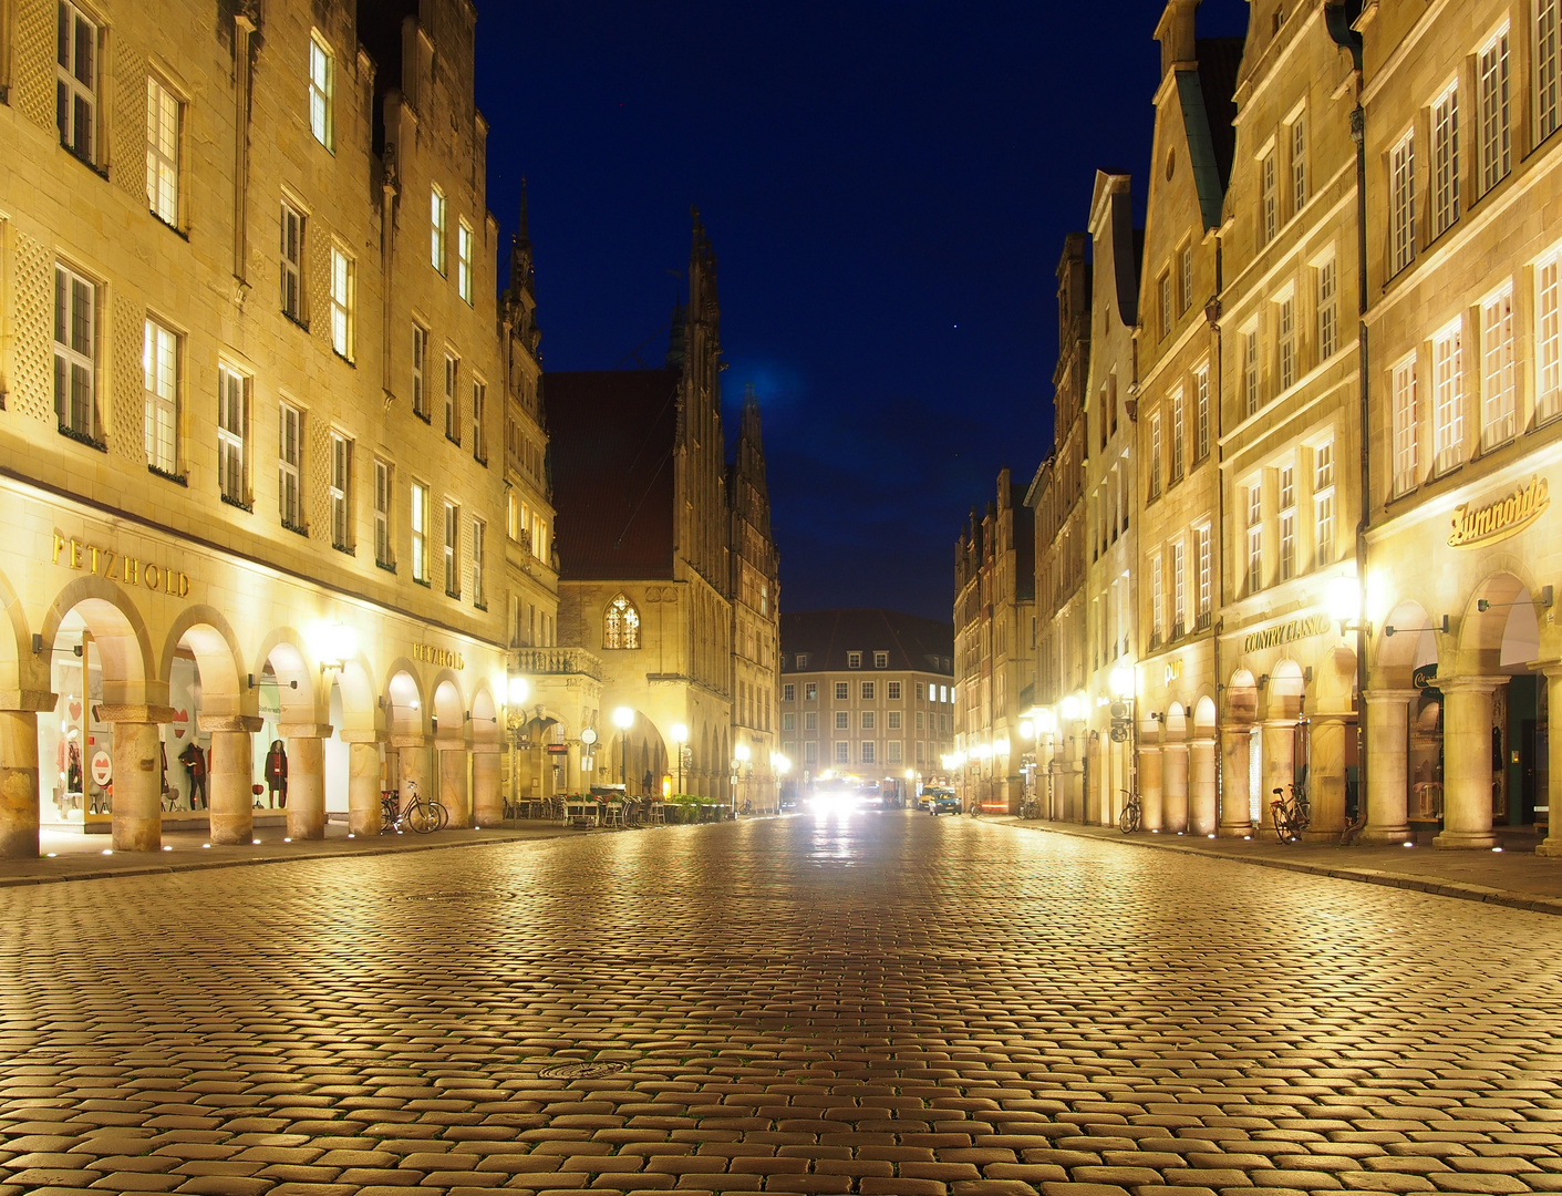
<svg viewBox="0 0 1562 1196">
<path fill-rule="evenodd" d="M 1051 441 L 1062 238 L 1097 167 L 1145 177 L 1161 9 L 483 0 L 489 206 L 508 249 L 528 177 L 544 367 L 611 369 L 667 325 L 698 206 L 783 607 L 948 619 L 970 508 Z M 1200 34 L 1245 16 L 1206 0 Z"/>
</svg>

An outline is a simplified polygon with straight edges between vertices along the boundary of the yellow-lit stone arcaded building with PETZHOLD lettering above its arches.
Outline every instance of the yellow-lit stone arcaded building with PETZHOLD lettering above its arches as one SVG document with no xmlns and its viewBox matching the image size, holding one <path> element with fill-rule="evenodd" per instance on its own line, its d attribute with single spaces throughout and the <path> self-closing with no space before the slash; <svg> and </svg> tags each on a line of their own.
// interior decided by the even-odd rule
<svg viewBox="0 0 1562 1196">
<path fill-rule="evenodd" d="M 41 821 L 137 850 L 328 810 L 373 833 L 408 782 L 500 818 L 509 375 L 470 5 L 5 9 L 3 849 Z M 284 813 L 251 794 L 273 750 Z"/>
</svg>

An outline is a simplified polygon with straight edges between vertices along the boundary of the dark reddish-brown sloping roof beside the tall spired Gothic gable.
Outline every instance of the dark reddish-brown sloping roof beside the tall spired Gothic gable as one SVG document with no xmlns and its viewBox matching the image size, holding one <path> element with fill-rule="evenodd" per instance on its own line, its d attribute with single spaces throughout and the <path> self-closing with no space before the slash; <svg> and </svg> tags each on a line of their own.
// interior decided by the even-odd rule
<svg viewBox="0 0 1562 1196">
<path fill-rule="evenodd" d="M 559 577 L 672 577 L 676 369 L 544 375 Z"/>
</svg>

